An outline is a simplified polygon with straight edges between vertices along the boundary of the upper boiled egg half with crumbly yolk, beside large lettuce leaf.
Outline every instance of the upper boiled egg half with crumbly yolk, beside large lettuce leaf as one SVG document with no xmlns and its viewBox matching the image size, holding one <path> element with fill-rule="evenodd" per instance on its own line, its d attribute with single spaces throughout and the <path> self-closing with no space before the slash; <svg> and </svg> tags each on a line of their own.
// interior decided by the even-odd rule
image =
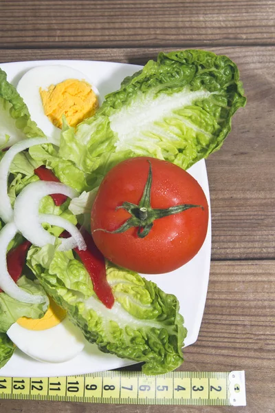
<svg viewBox="0 0 275 413">
<path fill-rule="evenodd" d="M 85 74 L 66 65 L 34 67 L 22 76 L 17 92 L 32 120 L 56 145 L 63 115 L 70 126 L 76 127 L 98 108 L 98 90 Z"/>
</svg>

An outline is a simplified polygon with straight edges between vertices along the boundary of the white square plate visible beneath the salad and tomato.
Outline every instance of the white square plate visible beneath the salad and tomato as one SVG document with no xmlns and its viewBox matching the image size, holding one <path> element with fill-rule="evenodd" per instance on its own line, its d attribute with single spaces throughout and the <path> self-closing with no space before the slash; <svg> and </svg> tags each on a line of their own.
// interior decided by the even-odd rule
<svg viewBox="0 0 275 413">
<path fill-rule="evenodd" d="M 98 61 L 34 61 L 0 64 L 8 74 L 8 81 L 17 86 L 21 76 L 38 65 L 67 65 L 83 72 L 100 93 L 101 101 L 107 93 L 120 88 L 125 76 L 131 76 L 142 67 L 123 63 Z M 210 195 L 206 164 L 197 162 L 189 170 L 206 193 L 210 207 Z M 209 214 L 210 217 L 210 214 Z M 169 274 L 144 275 L 156 282 L 166 293 L 177 296 L 180 313 L 184 316 L 184 325 L 188 329 L 185 346 L 195 343 L 199 335 L 201 319 L 206 301 L 211 254 L 211 220 L 209 218 L 206 240 L 197 255 L 186 265 Z M 73 374 L 85 374 L 102 370 L 111 370 L 133 364 L 133 361 L 120 359 L 111 354 L 100 352 L 95 345 L 87 343 L 83 352 L 65 363 L 42 363 L 31 359 L 19 349 L 8 363 L 1 368 L 0 375 L 7 377 L 56 377 Z"/>
</svg>

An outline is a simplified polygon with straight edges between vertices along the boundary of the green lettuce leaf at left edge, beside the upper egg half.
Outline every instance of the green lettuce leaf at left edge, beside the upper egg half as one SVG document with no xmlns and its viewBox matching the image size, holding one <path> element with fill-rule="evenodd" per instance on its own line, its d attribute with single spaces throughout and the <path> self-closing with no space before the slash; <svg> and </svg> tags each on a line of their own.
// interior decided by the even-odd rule
<svg viewBox="0 0 275 413">
<path fill-rule="evenodd" d="M 0 69 L 0 147 L 37 136 L 44 136 L 43 131 L 31 120 L 28 107 Z"/>
</svg>

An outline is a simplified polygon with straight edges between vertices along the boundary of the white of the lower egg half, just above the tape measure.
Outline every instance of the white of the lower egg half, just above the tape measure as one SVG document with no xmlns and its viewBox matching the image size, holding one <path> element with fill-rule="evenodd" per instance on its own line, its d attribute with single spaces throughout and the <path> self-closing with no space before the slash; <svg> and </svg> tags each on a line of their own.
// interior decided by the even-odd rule
<svg viewBox="0 0 275 413">
<path fill-rule="evenodd" d="M 47 330 L 28 330 L 14 323 L 7 335 L 25 354 L 47 363 L 74 359 L 87 343 L 81 330 L 67 317 Z"/>
</svg>

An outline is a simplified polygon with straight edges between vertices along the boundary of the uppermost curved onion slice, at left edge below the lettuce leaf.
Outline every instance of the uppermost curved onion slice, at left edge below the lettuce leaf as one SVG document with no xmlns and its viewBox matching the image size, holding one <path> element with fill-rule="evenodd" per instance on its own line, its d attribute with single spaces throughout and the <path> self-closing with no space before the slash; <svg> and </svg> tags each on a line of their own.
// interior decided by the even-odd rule
<svg viewBox="0 0 275 413">
<path fill-rule="evenodd" d="M 10 222 L 13 219 L 12 205 L 10 204 L 10 198 L 8 196 L 8 176 L 10 165 L 17 153 L 24 151 L 35 145 L 42 145 L 47 143 L 47 138 L 30 138 L 21 140 L 12 145 L 0 162 L 0 217 L 4 222 Z"/>
</svg>

